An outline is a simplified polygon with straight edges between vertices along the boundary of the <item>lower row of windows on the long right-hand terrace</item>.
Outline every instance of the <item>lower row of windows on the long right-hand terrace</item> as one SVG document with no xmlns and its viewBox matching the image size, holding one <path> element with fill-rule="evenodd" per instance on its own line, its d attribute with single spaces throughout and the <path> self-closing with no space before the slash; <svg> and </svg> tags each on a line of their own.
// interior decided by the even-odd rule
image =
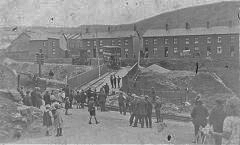
<svg viewBox="0 0 240 145">
<path fill-rule="evenodd" d="M 168 47 L 165 47 L 165 50 L 167 49 L 167 53 L 168 53 Z M 156 54 L 156 52 L 157 52 L 157 50 L 158 50 L 158 48 L 153 48 L 153 54 Z M 195 51 L 199 51 L 199 47 L 194 47 L 194 50 Z M 189 47 L 185 47 L 185 49 L 183 50 L 183 51 L 185 51 L 185 52 L 190 52 L 191 50 L 189 49 Z M 178 51 L 178 48 L 177 47 L 174 47 L 173 48 L 173 53 L 178 53 L 179 51 Z M 217 54 L 222 54 L 222 52 L 223 52 L 223 49 L 222 49 L 222 47 L 221 46 L 218 46 L 217 47 Z M 212 50 L 211 50 L 211 47 L 210 46 L 208 46 L 207 47 L 207 56 L 209 56 L 210 54 L 212 53 Z M 231 46 L 230 47 L 230 55 L 233 57 L 234 56 L 234 47 L 233 46 Z"/>
</svg>

